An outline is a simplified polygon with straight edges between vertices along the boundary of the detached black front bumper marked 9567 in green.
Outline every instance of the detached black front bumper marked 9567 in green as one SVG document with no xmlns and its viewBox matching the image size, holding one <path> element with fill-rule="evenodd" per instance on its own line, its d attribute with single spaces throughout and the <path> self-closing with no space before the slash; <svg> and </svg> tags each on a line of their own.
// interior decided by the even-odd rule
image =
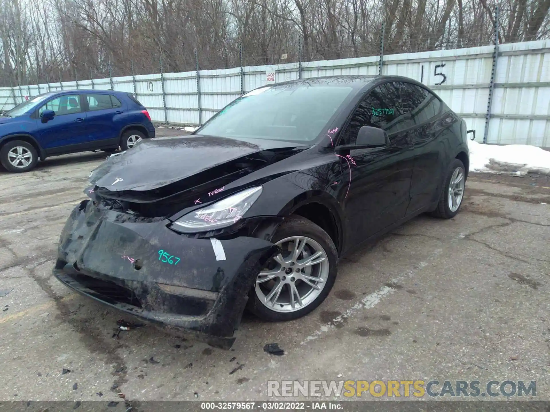
<svg viewBox="0 0 550 412">
<path fill-rule="evenodd" d="M 167 332 L 228 349 L 256 276 L 278 247 L 248 236 L 188 237 L 170 223 L 83 201 L 65 223 L 53 275 Z"/>
</svg>

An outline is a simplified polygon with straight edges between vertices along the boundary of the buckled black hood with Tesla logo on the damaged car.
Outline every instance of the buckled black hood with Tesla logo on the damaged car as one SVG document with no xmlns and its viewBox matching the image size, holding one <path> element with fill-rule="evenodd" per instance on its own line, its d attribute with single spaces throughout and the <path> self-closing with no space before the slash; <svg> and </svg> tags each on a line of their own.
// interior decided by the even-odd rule
<svg viewBox="0 0 550 412">
<path fill-rule="evenodd" d="M 245 142 L 201 135 L 147 139 L 109 157 L 89 180 L 109 192 L 149 191 L 248 155 L 296 146 L 278 140 Z"/>
</svg>

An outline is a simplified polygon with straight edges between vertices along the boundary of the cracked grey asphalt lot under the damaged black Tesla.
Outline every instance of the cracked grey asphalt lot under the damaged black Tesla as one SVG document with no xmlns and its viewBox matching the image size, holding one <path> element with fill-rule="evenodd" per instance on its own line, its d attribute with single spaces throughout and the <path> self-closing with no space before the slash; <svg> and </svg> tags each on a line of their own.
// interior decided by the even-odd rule
<svg viewBox="0 0 550 412">
<path fill-rule="evenodd" d="M 548 177 L 472 174 L 456 218 L 420 216 L 365 245 L 321 307 L 279 324 L 245 315 L 225 351 L 151 327 L 113 338 L 120 316 L 52 277 L 104 158 L 0 171 L 1 400 L 261 400 L 267 380 L 322 379 L 535 380 L 549 400 Z M 263 352 L 273 342 L 282 357 Z"/>
</svg>

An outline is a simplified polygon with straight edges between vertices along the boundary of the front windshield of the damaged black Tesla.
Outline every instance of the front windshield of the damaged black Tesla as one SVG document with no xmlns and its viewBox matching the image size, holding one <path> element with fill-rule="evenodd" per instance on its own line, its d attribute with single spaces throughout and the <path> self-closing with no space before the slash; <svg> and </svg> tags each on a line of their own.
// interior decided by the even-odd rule
<svg viewBox="0 0 550 412">
<path fill-rule="evenodd" d="M 312 141 L 352 88 L 289 85 L 262 87 L 230 103 L 197 131 L 201 135 Z"/>
</svg>

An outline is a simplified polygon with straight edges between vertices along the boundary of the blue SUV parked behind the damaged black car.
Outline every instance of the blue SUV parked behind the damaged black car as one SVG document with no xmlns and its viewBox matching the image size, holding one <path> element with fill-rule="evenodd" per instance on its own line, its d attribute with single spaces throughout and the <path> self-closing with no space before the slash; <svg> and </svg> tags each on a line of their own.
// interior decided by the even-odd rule
<svg viewBox="0 0 550 412">
<path fill-rule="evenodd" d="M 151 116 L 130 93 L 43 93 L 0 115 L 0 163 L 10 172 L 25 172 L 38 158 L 96 150 L 112 153 L 152 137 Z"/>
</svg>

